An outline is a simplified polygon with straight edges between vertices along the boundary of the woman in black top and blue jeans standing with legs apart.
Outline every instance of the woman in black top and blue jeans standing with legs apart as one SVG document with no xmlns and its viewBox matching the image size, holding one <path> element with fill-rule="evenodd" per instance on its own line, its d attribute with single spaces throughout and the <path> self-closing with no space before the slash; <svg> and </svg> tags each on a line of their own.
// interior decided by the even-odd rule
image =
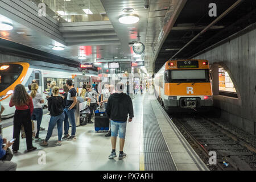
<svg viewBox="0 0 256 182">
<path fill-rule="evenodd" d="M 50 111 L 51 119 L 49 121 L 46 139 L 40 144 L 40 146 L 48 146 L 48 140 L 52 136 L 52 131 L 56 123 L 59 138 L 56 146 L 61 146 L 62 126 L 65 118 L 63 113 L 63 98 L 59 96 L 59 87 L 57 86 L 52 88 L 52 93 L 53 96 L 48 99 L 48 110 Z"/>
</svg>

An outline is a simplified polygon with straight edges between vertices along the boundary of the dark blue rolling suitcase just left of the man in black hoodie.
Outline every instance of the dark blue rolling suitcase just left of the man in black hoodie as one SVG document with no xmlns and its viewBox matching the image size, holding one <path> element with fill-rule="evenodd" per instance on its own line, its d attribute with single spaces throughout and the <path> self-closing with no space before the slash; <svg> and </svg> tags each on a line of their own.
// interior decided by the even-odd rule
<svg viewBox="0 0 256 182">
<path fill-rule="evenodd" d="M 102 100 L 102 97 L 101 97 Z M 108 132 L 109 131 L 109 118 L 105 113 L 105 105 L 102 104 L 100 109 L 95 111 L 94 116 L 94 127 L 97 132 Z"/>
</svg>

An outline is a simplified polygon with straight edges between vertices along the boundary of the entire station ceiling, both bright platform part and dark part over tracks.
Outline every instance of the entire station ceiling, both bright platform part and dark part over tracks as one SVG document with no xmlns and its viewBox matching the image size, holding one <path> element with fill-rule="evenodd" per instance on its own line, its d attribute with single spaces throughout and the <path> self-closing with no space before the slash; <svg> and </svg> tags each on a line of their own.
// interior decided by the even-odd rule
<svg viewBox="0 0 256 182">
<path fill-rule="evenodd" d="M 249 26 L 256 19 L 256 1 L 244 0 L 180 51 L 216 19 L 208 15 L 210 3 L 216 3 L 219 16 L 237 0 L 150 0 L 149 9 L 144 9 L 144 0 L 44 0 L 48 7 L 46 18 L 38 17 L 36 5 L 39 2 L 0 1 L 0 14 L 14 25 L 11 31 L 0 31 L 0 38 L 5 43 L 17 43 L 16 51 L 27 46 L 28 53 L 36 49 L 39 55 L 42 51 L 42 55 L 59 56 L 56 63 L 70 63 L 72 66 L 80 63 L 78 56 L 81 53 L 86 54 L 86 62 L 125 62 L 133 59 L 131 45 L 139 37 L 146 46 L 143 59 L 151 73 L 157 72 L 169 59 L 187 59 Z M 133 8 L 133 13 L 139 15 L 138 23 L 127 25 L 118 22 L 126 7 Z M 90 9 L 93 14 L 86 14 L 84 9 Z M 63 15 L 60 15 L 61 11 Z M 52 50 L 55 43 L 63 44 L 65 50 Z M 19 44 L 22 44 L 20 48 Z M 60 61 L 60 57 L 64 61 Z"/>
</svg>

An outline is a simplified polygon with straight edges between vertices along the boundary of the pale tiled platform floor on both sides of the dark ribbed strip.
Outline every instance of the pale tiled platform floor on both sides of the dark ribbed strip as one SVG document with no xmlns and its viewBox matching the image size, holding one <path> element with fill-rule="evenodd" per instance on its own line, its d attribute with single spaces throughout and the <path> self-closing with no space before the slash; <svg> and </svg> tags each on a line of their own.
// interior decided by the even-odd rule
<svg viewBox="0 0 256 182">
<path fill-rule="evenodd" d="M 145 97 L 146 96 L 146 97 Z M 18 164 L 17 170 L 88 170 L 88 171 L 138 171 L 143 170 L 143 105 L 144 98 L 151 100 L 156 118 L 166 143 L 171 152 L 178 170 L 199 170 L 195 162 L 186 153 L 184 146 L 176 136 L 177 131 L 170 125 L 157 105 L 152 92 L 143 95 L 135 95 L 133 99 L 133 122 L 127 123 L 124 152 L 127 158 L 123 160 L 108 159 L 112 151 L 110 137 L 104 137 L 106 133 L 96 133 L 94 124 L 77 127 L 76 140 L 63 140 L 62 146 L 55 146 L 56 134 L 49 139 L 48 147 L 41 147 L 33 141 L 38 150 L 26 153 L 26 140 L 20 139 L 18 154 L 15 154 L 13 162 Z M 43 115 L 42 127 L 48 128 L 49 115 Z M 71 130 L 71 129 L 70 129 Z M 44 139 L 47 131 L 40 131 L 39 137 Z M 10 140 L 13 137 L 13 126 L 3 129 L 3 137 Z M 46 152 L 46 164 L 39 164 L 39 152 Z M 119 153 L 119 139 L 117 139 L 117 154 Z"/>
</svg>

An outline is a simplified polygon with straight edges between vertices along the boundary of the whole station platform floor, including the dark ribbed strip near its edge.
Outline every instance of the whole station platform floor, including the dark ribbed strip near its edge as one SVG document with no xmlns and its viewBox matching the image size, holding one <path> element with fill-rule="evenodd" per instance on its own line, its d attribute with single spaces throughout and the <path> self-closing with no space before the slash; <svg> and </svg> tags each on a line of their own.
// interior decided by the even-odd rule
<svg viewBox="0 0 256 182">
<path fill-rule="evenodd" d="M 55 146 L 57 135 L 49 139 L 48 147 L 33 142 L 38 150 L 27 153 L 26 139 L 20 139 L 18 154 L 13 162 L 19 171 L 184 171 L 209 170 L 197 156 L 185 138 L 177 130 L 171 119 L 158 104 L 150 91 L 137 94 L 133 98 L 134 119 L 127 123 L 124 152 L 127 157 L 108 159 L 112 151 L 110 137 L 106 133 L 96 133 L 94 124 L 77 127 L 77 139 L 63 140 Z M 48 128 L 50 116 L 43 115 L 42 127 Z M 44 139 L 47 131 L 40 131 Z M 10 140 L 13 126 L 3 129 L 3 137 Z M 46 164 L 39 164 L 40 154 L 46 154 Z M 119 139 L 117 139 L 117 154 Z"/>
</svg>

